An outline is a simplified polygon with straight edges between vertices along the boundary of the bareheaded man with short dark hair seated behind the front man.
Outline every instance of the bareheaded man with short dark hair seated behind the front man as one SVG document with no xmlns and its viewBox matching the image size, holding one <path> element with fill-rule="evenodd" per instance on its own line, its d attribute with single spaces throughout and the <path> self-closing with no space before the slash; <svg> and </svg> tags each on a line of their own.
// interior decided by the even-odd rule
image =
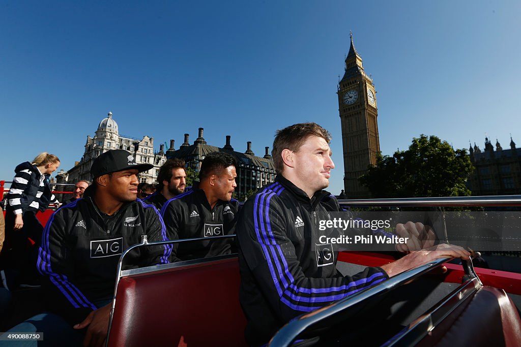
<svg viewBox="0 0 521 347">
<path fill-rule="evenodd" d="M 231 196 L 235 184 L 235 159 L 213 152 L 201 164 L 199 186 L 168 200 L 161 209 L 170 239 L 202 238 L 173 247 L 172 262 L 231 253 L 231 239 L 210 240 L 233 234 L 239 202 Z"/>
</svg>

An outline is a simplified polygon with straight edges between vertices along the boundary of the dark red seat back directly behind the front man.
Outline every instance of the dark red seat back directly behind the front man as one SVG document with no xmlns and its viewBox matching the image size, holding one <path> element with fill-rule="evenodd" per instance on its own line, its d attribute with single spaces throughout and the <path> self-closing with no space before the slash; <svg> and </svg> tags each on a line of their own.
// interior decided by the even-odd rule
<svg viewBox="0 0 521 347">
<path fill-rule="evenodd" d="M 245 346 L 237 258 L 121 277 L 109 346 Z"/>
</svg>

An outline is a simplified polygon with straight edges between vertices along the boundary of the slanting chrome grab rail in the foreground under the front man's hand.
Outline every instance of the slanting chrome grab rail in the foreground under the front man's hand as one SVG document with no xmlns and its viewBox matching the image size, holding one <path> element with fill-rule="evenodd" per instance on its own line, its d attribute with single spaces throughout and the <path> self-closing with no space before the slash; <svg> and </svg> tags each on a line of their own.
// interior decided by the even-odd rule
<svg viewBox="0 0 521 347">
<path fill-rule="evenodd" d="M 377 295 L 387 293 L 388 291 L 399 287 L 408 281 L 414 280 L 419 276 L 432 271 L 432 269 L 441 266 L 443 263 L 451 259 L 452 258 L 440 258 L 433 260 L 430 263 L 405 271 L 401 274 L 389 278 L 386 281 L 380 282 L 373 287 L 366 288 L 362 291 L 359 291 L 358 293 L 350 295 L 349 297 L 336 301 L 328 306 L 322 307 L 321 309 L 303 314 L 291 320 L 291 322 L 279 329 L 276 335 L 270 340 L 268 346 L 289 346 L 302 332 L 304 332 L 312 325 L 319 323 L 321 320 L 330 318 L 344 310 L 349 309 L 355 304 L 369 300 L 371 298 L 375 298 Z M 464 264 L 463 267 L 465 270 L 465 276 L 463 278 L 465 281 L 464 286 L 468 286 L 469 282 L 475 282 L 475 289 L 481 287 L 481 281 L 479 281 L 479 278 L 474 272 L 472 261 L 463 261 L 462 264 Z"/>
</svg>

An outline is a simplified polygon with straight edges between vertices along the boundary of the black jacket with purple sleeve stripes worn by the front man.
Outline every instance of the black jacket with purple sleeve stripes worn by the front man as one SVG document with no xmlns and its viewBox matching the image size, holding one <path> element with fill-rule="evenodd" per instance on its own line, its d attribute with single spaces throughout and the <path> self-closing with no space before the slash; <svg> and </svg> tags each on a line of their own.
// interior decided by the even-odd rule
<svg viewBox="0 0 521 347">
<path fill-rule="evenodd" d="M 317 220 L 339 211 L 325 190 L 309 199 L 281 175 L 250 197 L 239 213 L 240 301 L 246 342 L 266 343 L 292 318 L 386 280 L 379 267 L 354 276 L 337 271 L 335 245 L 321 245 Z"/>
</svg>

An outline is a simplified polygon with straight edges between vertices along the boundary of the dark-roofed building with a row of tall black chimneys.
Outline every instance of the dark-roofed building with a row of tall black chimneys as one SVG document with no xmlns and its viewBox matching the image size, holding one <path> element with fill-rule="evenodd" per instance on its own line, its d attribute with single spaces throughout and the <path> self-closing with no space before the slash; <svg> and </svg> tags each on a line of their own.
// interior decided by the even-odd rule
<svg viewBox="0 0 521 347">
<path fill-rule="evenodd" d="M 198 173 L 201 169 L 201 162 L 208 153 L 221 151 L 234 156 L 239 164 L 237 168 L 237 188 L 235 193 L 238 199 L 242 200 L 244 195 L 250 190 L 257 190 L 267 183 L 275 181 L 275 164 L 269 155 L 269 147 L 265 147 L 264 157 L 257 157 L 252 151 L 252 143 L 246 143 L 244 153 L 237 152 L 230 144 L 231 136 L 226 136 L 226 144 L 223 147 L 208 145 L 203 137 L 203 128 L 199 128 L 199 137 L 192 145 L 189 143 L 189 134 L 184 134 L 184 142 L 178 150 L 174 149 L 174 140 L 170 140 L 170 148 L 166 151 L 166 156 L 170 158 L 180 158 L 187 163 L 187 166 Z"/>
</svg>

